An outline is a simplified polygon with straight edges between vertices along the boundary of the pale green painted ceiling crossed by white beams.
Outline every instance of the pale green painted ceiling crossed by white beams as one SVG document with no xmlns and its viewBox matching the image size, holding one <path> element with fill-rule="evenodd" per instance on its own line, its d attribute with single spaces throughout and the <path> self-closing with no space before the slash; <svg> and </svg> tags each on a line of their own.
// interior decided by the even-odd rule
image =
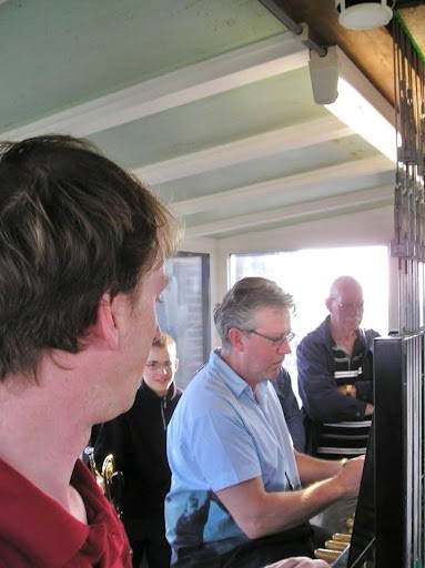
<svg viewBox="0 0 425 568">
<path fill-rule="evenodd" d="M 0 136 L 92 140 L 186 239 L 380 211 L 394 163 L 314 102 L 308 60 L 259 0 L 6 0 Z"/>
</svg>

